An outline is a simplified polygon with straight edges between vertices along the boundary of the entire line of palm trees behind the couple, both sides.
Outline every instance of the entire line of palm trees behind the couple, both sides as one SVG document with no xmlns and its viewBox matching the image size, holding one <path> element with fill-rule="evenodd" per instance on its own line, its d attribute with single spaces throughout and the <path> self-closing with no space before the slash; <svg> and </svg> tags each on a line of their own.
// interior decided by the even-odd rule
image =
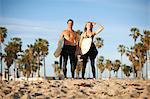
<svg viewBox="0 0 150 99">
<path fill-rule="evenodd" d="M 145 30 L 143 34 L 140 33 L 139 29 L 132 28 L 131 34 L 134 44 L 132 47 L 126 47 L 124 45 L 118 46 L 118 52 L 120 52 L 121 61 L 116 59 L 112 62 L 110 59 L 106 59 L 104 63 L 104 57 L 99 56 L 97 58 L 97 67 L 100 72 L 100 78 L 105 69 L 109 71 L 109 78 L 111 77 L 111 70 L 115 72 L 115 76 L 118 75 L 118 70 L 121 68 L 123 73 L 129 77 L 130 73 L 133 72 L 135 78 L 143 78 L 143 67 L 146 65 L 146 78 L 148 77 L 148 66 L 150 65 L 150 31 Z M 77 30 L 77 37 L 80 38 L 82 31 Z M 14 64 L 14 72 L 19 77 L 19 71 L 24 76 L 29 77 L 33 73 L 37 73 L 40 77 L 40 67 L 44 66 L 44 77 L 45 73 L 45 57 L 48 55 L 49 43 L 45 39 L 36 39 L 34 44 L 28 45 L 26 50 L 22 50 L 22 41 L 20 38 L 12 38 L 8 44 L 5 44 L 4 54 L 2 53 L 2 44 L 7 37 L 7 29 L 0 27 L 0 61 L 1 61 L 1 75 L 2 75 L 2 60 L 6 63 L 5 77 L 9 79 L 9 68 Z M 139 39 L 139 40 L 138 40 Z M 138 41 L 138 42 L 137 42 Z M 104 46 L 104 40 L 100 37 L 96 37 L 95 45 L 98 49 Z M 123 64 L 123 55 L 126 55 L 131 61 L 131 66 Z M 15 75 L 14 75 L 15 76 Z"/>
</svg>

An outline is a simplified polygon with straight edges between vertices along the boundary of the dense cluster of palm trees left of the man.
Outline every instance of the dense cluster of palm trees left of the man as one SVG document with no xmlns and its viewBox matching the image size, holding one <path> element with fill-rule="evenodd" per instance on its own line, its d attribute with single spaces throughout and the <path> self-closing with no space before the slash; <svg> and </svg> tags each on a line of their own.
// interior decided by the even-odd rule
<svg viewBox="0 0 150 99">
<path fill-rule="evenodd" d="M 9 80 L 9 69 L 14 65 L 14 78 L 19 77 L 22 72 L 27 78 L 33 73 L 40 77 L 40 67 L 44 66 L 44 78 L 46 77 L 45 57 L 48 55 L 49 42 L 45 39 L 36 39 L 34 44 L 27 45 L 27 49 L 22 50 L 21 38 L 11 38 L 8 44 L 5 44 L 4 53 L 2 52 L 2 43 L 7 37 L 7 29 L 0 27 L 0 58 L 1 58 L 1 79 L 2 79 L 2 61 L 4 60 L 5 78 Z"/>
</svg>

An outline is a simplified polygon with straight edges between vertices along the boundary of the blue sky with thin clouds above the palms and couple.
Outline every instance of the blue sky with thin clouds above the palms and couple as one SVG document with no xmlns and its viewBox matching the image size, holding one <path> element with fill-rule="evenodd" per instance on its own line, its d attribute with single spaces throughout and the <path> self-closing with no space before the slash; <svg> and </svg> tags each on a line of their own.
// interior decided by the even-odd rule
<svg viewBox="0 0 150 99">
<path fill-rule="evenodd" d="M 21 37 L 25 49 L 39 37 L 49 41 L 48 76 L 53 75 L 51 64 L 58 60 L 53 52 L 69 18 L 74 20 L 74 30 L 83 31 L 87 21 L 102 24 L 105 29 L 98 36 L 104 39 L 104 46 L 99 55 L 115 60 L 120 58 L 119 44 L 133 44 L 129 37 L 131 27 L 141 32 L 150 29 L 150 0 L 0 0 L 0 25 L 8 29 L 5 43 L 12 37 Z M 131 64 L 123 58 L 124 63 Z"/>
</svg>

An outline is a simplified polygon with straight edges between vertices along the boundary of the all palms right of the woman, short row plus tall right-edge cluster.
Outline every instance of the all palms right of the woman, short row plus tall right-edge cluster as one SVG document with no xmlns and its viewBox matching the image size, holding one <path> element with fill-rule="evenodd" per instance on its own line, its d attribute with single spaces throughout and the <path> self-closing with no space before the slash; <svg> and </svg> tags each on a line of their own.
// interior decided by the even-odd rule
<svg viewBox="0 0 150 99">
<path fill-rule="evenodd" d="M 146 65 L 146 79 L 148 78 L 148 66 L 150 66 L 150 31 L 145 30 L 143 34 L 140 33 L 138 28 L 131 28 L 131 34 L 129 36 L 132 37 L 134 44 L 132 47 L 126 47 L 122 44 L 118 45 L 118 52 L 121 55 L 121 61 L 115 60 L 114 63 L 106 59 L 106 63 L 104 63 L 104 57 L 99 56 L 97 59 L 97 67 L 101 74 L 103 73 L 104 69 L 106 68 L 109 71 L 109 78 L 111 77 L 111 70 L 117 72 L 121 67 L 122 73 L 124 73 L 127 77 L 130 76 L 130 73 L 133 72 L 134 78 L 143 79 L 143 67 Z M 137 42 L 137 39 L 140 38 Z M 126 55 L 131 62 L 131 66 L 123 64 L 122 56 Z M 122 74 L 123 75 L 123 74 Z"/>
</svg>

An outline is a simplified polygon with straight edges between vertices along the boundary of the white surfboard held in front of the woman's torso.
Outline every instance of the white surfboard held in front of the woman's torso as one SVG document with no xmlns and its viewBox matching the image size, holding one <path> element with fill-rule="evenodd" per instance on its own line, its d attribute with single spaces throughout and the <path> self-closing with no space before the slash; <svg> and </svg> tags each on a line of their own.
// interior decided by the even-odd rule
<svg viewBox="0 0 150 99">
<path fill-rule="evenodd" d="M 82 55 L 86 54 L 90 50 L 91 44 L 92 44 L 92 38 L 84 38 L 82 40 L 81 43 Z"/>
</svg>

